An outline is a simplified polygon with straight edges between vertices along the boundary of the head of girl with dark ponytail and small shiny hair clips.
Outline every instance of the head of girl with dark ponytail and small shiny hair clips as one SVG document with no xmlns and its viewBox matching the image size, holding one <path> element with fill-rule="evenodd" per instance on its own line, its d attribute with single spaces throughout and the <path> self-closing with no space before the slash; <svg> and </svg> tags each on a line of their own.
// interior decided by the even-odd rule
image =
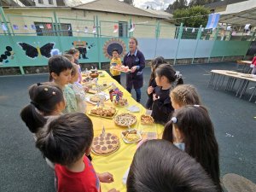
<svg viewBox="0 0 256 192">
<path fill-rule="evenodd" d="M 65 100 L 62 90 L 53 83 L 32 84 L 28 93 L 31 102 L 21 110 L 20 118 L 37 139 L 37 133 L 47 119 L 61 114 Z"/>
</svg>

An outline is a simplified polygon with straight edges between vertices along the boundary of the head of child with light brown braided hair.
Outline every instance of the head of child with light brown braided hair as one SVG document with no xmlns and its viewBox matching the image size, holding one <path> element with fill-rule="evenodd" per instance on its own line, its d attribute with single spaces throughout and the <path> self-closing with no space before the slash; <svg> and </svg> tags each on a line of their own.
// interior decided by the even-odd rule
<svg viewBox="0 0 256 192">
<path fill-rule="evenodd" d="M 192 84 L 180 84 L 170 94 L 172 108 L 178 109 L 186 105 L 201 105 L 201 99 Z"/>
</svg>

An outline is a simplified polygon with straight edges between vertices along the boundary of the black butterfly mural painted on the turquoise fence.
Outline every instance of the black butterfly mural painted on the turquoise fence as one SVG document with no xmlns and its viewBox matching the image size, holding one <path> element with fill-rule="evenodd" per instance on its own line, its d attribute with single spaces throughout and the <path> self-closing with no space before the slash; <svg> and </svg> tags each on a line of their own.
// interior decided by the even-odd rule
<svg viewBox="0 0 256 192">
<path fill-rule="evenodd" d="M 32 59 L 36 59 L 41 55 L 48 59 L 50 57 L 50 51 L 55 47 L 55 43 L 44 44 L 42 47 L 39 47 L 39 42 L 37 47 L 22 42 L 17 42 L 17 44 L 20 46 L 20 48 L 25 50 L 25 54 Z"/>
</svg>

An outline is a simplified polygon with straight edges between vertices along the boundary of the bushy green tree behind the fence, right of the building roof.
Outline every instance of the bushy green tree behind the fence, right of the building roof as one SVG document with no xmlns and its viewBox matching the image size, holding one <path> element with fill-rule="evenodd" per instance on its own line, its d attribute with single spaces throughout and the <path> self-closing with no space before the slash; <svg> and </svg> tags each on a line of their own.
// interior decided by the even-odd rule
<svg viewBox="0 0 256 192">
<path fill-rule="evenodd" d="M 209 14 L 209 9 L 202 6 L 194 6 L 189 9 L 177 9 L 173 13 L 173 18 L 176 19 L 175 24 L 177 26 L 183 23 L 183 26 L 199 27 L 201 25 L 207 26 Z"/>
</svg>

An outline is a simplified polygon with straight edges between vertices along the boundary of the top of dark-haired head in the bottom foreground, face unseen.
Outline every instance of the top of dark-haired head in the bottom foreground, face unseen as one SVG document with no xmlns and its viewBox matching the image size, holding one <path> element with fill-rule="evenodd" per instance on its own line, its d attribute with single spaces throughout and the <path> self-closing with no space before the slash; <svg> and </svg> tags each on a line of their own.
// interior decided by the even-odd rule
<svg viewBox="0 0 256 192">
<path fill-rule="evenodd" d="M 127 192 L 217 192 L 207 172 L 172 143 L 149 140 L 133 157 Z"/>
</svg>

